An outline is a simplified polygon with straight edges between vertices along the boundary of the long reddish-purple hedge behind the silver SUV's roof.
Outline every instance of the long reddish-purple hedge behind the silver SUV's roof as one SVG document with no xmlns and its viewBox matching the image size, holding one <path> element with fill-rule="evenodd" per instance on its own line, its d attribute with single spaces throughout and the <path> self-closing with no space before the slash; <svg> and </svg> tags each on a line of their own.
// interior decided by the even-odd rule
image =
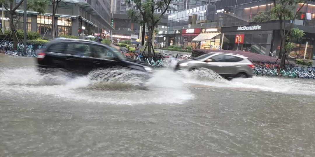
<svg viewBox="0 0 315 157">
<path fill-rule="evenodd" d="M 251 62 L 276 62 L 278 58 L 276 57 L 269 57 L 257 53 L 252 52 L 243 52 L 243 51 L 230 51 L 230 50 L 207 50 L 207 49 L 194 49 L 192 50 L 192 57 L 198 57 L 200 55 L 209 53 L 209 52 L 226 52 L 226 53 L 234 53 L 243 55 L 245 57 L 248 57 L 248 59 Z M 291 64 L 294 64 L 294 62 L 289 61 Z M 277 63 L 280 63 L 280 59 L 278 59 Z M 286 62 L 287 63 L 287 62 Z"/>
</svg>

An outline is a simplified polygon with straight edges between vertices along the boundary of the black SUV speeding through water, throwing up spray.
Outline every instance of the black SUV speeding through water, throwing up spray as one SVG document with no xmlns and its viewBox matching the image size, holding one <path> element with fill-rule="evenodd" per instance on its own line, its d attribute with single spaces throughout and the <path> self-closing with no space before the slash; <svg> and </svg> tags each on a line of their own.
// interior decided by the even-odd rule
<svg viewBox="0 0 315 157">
<path fill-rule="evenodd" d="M 49 42 L 37 54 L 41 72 L 46 68 L 63 68 L 67 71 L 86 74 L 96 68 L 120 66 L 151 72 L 152 68 L 132 61 L 116 49 L 96 41 L 57 38 Z"/>
</svg>

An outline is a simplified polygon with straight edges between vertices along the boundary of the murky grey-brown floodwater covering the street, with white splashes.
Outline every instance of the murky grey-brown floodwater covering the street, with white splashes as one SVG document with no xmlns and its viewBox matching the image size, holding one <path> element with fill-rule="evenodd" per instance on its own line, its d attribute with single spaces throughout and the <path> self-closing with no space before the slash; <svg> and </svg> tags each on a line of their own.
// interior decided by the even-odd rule
<svg viewBox="0 0 315 157">
<path fill-rule="evenodd" d="M 209 70 L 40 75 L 0 55 L 0 156 L 315 156 L 315 81 Z"/>
</svg>

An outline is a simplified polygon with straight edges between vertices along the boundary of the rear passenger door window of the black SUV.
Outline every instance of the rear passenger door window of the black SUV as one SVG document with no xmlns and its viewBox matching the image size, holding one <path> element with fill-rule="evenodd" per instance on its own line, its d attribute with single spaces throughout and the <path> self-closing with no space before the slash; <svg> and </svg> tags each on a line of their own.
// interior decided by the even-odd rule
<svg viewBox="0 0 315 157">
<path fill-rule="evenodd" d="M 91 57 L 90 45 L 82 43 L 68 43 L 66 54 Z"/>
</svg>

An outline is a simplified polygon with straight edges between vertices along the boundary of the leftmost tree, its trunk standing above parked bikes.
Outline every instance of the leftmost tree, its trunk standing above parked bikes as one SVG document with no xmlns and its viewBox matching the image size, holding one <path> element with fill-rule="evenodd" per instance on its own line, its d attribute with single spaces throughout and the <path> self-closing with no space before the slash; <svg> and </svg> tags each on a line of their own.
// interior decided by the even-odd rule
<svg viewBox="0 0 315 157">
<path fill-rule="evenodd" d="M 17 8 L 20 7 L 20 5 L 24 2 L 24 0 L 20 0 L 18 4 L 13 5 L 15 3 L 15 0 L 0 0 L 0 4 L 2 4 L 6 11 L 9 12 L 9 22 L 10 22 L 10 29 L 12 31 L 13 36 L 13 50 L 16 50 L 17 48 L 17 34 L 16 32 L 16 25 L 14 25 L 14 19 L 15 17 L 15 11 Z M 34 11 L 37 11 L 38 14 L 43 14 L 46 11 L 47 7 L 47 0 L 27 0 L 27 9 L 33 9 Z M 9 3 L 9 9 L 6 6 L 6 3 Z M 25 22 L 25 21 L 24 21 Z"/>
</svg>

